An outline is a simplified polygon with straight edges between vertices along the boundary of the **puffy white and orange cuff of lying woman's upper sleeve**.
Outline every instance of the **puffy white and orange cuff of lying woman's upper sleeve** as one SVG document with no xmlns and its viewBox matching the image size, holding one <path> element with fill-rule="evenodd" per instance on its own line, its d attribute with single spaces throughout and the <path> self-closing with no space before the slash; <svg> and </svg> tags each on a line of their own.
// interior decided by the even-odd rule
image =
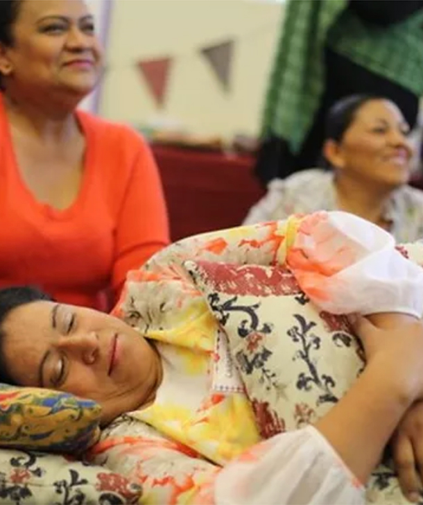
<svg viewBox="0 0 423 505">
<path fill-rule="evenodd" d="M 343 263 L 338 273 L 322 277 L 325 298 L 313 299 L 332 314 L 402 312 L 423 314 L 423 268 L 406 259 L 388 232 L 354 214 L 327 212 L 311 232 L 298 232 L 294 246 L 317 264 Z M 316 283 L 316 280 L 313 282 Z"/>
</svg>

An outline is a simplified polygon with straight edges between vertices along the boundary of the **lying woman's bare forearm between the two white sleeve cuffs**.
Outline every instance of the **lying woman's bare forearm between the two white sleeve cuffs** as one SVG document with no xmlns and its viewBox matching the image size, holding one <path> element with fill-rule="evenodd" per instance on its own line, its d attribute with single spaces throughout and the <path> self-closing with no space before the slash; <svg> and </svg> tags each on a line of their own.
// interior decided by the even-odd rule
<svg viewBox="0 0 423 505">
<path fill-rule="evenodd" d="M 423 398 L 423 325 L 407 316 L 355 318 L 368 363 L 349 391 L 316 422 L 316 429 L 365 483 L 404 414 Z M 397 323 L 399 323 L 397 325 Z M 393 326 L 393 328 L 392 328 Z"/>
</svg>

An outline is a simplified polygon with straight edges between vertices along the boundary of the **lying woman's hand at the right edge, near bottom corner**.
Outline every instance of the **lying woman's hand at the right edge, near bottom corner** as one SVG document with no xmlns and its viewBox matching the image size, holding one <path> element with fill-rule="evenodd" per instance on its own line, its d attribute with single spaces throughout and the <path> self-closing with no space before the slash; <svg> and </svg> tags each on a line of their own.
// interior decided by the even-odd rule
<svg viewBox="0 0 423 505">
<path fill-rule="evenodd" d="M 391 445 L 402 492 L 417 502 L 423 489 L 423 402 L 413 404 L 406 412 Z"/>
</svg>

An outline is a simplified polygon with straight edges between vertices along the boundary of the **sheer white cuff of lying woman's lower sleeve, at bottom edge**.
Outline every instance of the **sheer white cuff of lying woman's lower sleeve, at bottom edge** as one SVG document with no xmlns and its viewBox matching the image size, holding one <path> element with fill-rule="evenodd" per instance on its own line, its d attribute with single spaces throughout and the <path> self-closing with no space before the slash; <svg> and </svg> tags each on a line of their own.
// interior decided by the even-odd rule
<svg viewBox="0 0 423 505">
<path fill-rule="evenodd" d="M 262 445 L 267 448 L 264 455 L 238 459 L 221 470 L 215 483 L 216 504 L 365 503 L 363 486 L 315 428 L 280 434 Z"/>
</svg>

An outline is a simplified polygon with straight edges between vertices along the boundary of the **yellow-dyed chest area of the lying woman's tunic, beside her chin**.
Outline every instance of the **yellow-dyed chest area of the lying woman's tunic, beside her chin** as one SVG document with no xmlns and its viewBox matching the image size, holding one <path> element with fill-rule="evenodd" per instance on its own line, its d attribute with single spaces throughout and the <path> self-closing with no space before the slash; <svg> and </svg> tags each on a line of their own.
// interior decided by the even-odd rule
<svg viewBox="0 0 423 505">
<path fill-rule="evenodd" d="M 171 331 L 152 331 L 148 334 L 150 339 L 173 343 L 173 384 L 178 381 L 178 373 L 188 375 L 192 381 L 198 381 L 198 388 L 203 388 L 203 400 L 191 408 L 182 406 L 184 391 L 181 388 L 180 397 L 173 397 L 171 400 L 169 395 L 163 402 L 159 397 L 148 409 L 133 413 L 132 416 L 200 452 L 215 463 L 224 464 L 257 443 L 260 436 L 250 402 L 243 393 L 221 395 L 210 391 L 210 350 L 214 348 L 216 330 L 216 320 L 211 318 L 207 310 L 207 314 L 190 320 L 184 327 L 180 326 Z M 177 340 L 182 346 L 174 345 Z M 187 347 L 189 344 L 192 348 Z M 209 377 L 209 380 L 205 380 L 205 377 Z M 242 430 L 239 429 L 239 422 L 243 423 Z"/>
</svg>

